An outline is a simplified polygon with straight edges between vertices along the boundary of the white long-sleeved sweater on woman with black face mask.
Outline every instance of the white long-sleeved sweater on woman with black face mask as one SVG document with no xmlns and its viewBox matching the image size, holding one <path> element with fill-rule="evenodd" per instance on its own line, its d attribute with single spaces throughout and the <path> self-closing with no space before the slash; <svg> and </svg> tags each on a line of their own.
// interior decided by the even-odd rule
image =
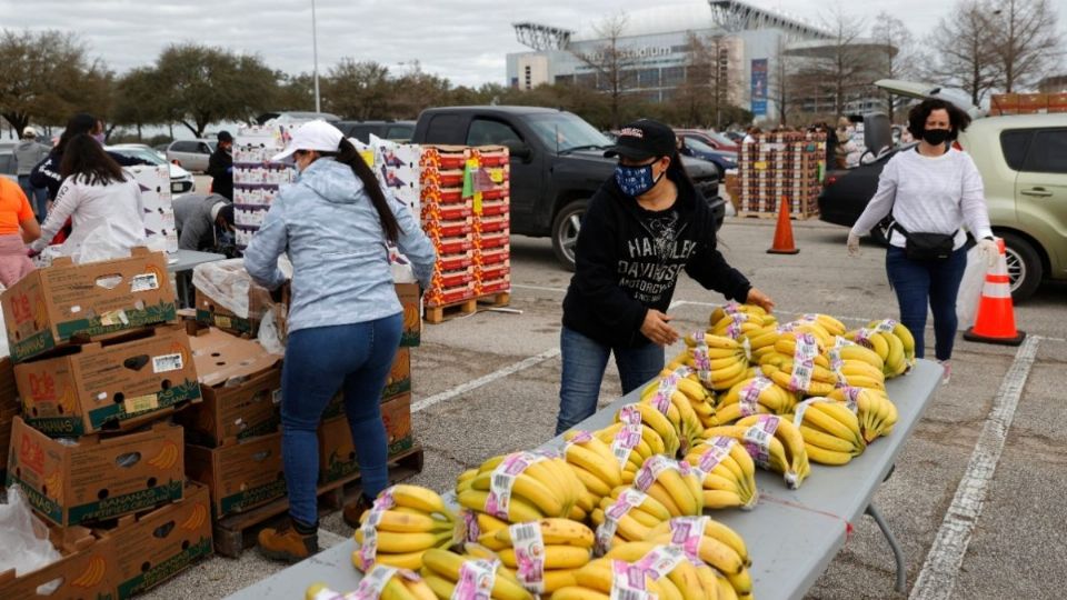
<svg viewBox="0 0 1067 600">
<path fill-rule="evenodd" d="M 909 233 L 956 232 L 957 249 L 967 241 L 964 224 L 975 238 L 993 236 L 981 174 L 970 154 L 955 148 L 940 157 L 924 157 L 915 149 L 897 152 L 851 233 L 866 236 L 890 211 Z M 904 236 L 895 229 L 889 243 L 904 248 Z"/>
</svg>

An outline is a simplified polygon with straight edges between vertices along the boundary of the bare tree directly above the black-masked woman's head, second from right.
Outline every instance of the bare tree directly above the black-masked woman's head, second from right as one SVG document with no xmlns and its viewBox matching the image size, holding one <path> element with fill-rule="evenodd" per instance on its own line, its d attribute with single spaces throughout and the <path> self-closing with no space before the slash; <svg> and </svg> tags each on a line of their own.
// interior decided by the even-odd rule
<svg viewBox="0 0 1067 600">
<path fill-rule="evenodd" d="M 999 79 L 996 43 L 989 34 L 993 10 L 983 0 L 960 0 L 930 37 L 937 54 L 930 74 L 938 83 L 967 91 L 975 106 Z"/>
</svg>

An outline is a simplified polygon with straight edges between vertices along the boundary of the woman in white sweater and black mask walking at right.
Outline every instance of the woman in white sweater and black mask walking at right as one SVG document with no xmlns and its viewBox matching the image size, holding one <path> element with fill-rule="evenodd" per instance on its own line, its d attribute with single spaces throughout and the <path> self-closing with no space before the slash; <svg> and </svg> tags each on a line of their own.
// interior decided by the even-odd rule
<svg viewBox="0 0 1067 600">
<path fill-rule="evenodd" d="M 859 238 L 891 214 L 886 271 L 897 293 L 900 322 L 915 336 L 915 352 L 924 356 L 926 307 L 934 313 L 935 353 L 945 368 L 944 381 L 951 373 L 949 359 L 956 339 L 956 296 L 967 267 L 967 234 L 989 264 L 998 257 L 989 228 L 981 174 L 970 156 L 951 148 L 957 134 L 967 129 L 970 118 L 954 104 L 928 99 L 908 113 L 908 130 L 919 140 L 914 149 L 903 150 L 886 163 L 878 191 L 848 233 L 848 252 L 859 252 Z M 903 230 L 903 231 L 901 231 Z M 951 252 L 944 259 L 908 258 L 907 237 L 940 233 L 951 237 Z"/>
</svg>

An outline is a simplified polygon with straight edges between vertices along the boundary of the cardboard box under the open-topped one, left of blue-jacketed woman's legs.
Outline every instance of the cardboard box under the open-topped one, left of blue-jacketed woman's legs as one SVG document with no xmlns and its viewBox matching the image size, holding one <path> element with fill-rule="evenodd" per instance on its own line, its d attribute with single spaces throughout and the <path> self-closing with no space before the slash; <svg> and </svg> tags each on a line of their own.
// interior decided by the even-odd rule
<svg viewBox="0 0 1067 600">
<path fill-rule="evenodd" d="M 281 433 L 219 448 L 186 446 L 186 474 L 211 489 L 216 518 L 286 496 Z"/>
</svg>

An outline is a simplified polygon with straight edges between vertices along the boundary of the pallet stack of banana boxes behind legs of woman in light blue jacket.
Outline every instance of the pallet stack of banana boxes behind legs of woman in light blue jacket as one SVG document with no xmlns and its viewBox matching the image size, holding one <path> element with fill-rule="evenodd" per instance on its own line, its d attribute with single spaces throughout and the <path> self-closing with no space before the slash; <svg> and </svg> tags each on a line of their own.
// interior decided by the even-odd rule
<svg viewBox="0 0 1067 600">
<path fill-rule="evenodd" d="M 193 283 L 197 320 L 188 328 L 203 401 L 179 416 L 186 429 L 186 468 L 190 479 L 211 490 L 216 551 L 237 557 L 289 508 L 280 413 L 286 304 L 252 282 L 240 260 L 198 266 Z M 397 293 L 405 306 L 403 347 L 381 412 L 390 443 L 389 474 L 402 479 L 422 469 L 422 450 L 411 433 L 409 348 L 419 341 L 418 286 L 398 284 Z M 265 319 L 277 323 L 270 343 L 255 339 L 268 331 L 261 327 Z M 277 346 L 276 353 L 265 346 Z M 355 447 L 339 396 L 326 409 L 319 442 L 319 507 L 330 512 L 359 492 Z"/>
</svg>

